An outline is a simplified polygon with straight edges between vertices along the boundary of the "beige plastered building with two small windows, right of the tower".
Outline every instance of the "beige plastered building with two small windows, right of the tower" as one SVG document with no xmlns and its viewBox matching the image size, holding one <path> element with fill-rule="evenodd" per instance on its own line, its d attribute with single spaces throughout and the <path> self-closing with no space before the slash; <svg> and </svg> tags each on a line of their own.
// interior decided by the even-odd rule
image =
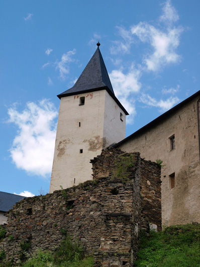
<svg viewBox="0 0 200 267">
<path fill-rule="evenodd" d="M 200 223 L 200 91 L 119 142 L 145 160 L 162 160 L 162 225 Z"/>
</svg>

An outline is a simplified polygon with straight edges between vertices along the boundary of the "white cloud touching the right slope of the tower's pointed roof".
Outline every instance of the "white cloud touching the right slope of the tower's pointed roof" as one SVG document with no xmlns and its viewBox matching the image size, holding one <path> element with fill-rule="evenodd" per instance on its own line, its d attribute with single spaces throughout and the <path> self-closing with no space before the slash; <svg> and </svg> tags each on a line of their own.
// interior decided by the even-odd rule
<svg viewBox="0 0 200 267">
<path fill-rule="evenodd" d="M 116 97 L 130 114 L 127 119 L 127 123 L 130 124 L 133 123 L 134 116 L 136 115 L 135 101 L 131 99 L 130 95 L 140 91 L 140 75 L 140 70 L 135 69 L 134 65 L 131 66 L 126 74 L 123 73 L 122 69 L 113 70 L 109 74 Z"/>
</svg>

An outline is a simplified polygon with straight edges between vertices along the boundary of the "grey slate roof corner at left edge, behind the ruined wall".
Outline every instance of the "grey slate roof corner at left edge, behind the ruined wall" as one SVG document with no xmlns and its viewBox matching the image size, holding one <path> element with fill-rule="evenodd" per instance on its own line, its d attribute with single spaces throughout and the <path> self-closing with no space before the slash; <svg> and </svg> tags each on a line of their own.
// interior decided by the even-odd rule
<svg viewBox="0 0 200 267">
<path fill-rule="evenodd" d="M 0 191 L 0 211 L 6 212 L 12 209 L 23 198 L 25 197 Z"/>
</svg>

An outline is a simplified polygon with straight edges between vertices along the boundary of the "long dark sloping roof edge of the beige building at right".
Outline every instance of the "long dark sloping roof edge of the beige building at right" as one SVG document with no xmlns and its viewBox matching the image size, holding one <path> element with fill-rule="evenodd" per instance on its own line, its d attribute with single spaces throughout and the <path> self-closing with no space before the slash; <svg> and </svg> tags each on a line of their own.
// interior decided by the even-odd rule
<svg viewBox="0 0 200 267">
<path fill-rule="evenodd" d="M 146 132 L 147 130 L 149 130 L 151 127 L 154 127 L 154 126 L 158 125 L 159 123 L 162 123 L 163 120 L 165 120 L 169 116 L 173 115 L 174 112 L 176 112 L 177 110 L 179 110 L 180 108 L 182 108 L 184 105 L 186 105 L 187 103 L 189 103 L 190 101 L 192 101 L 193 99 L 195 99 L 197 96 L 200 97 L 200 91 L 196 92 L 191 97 L 183 100 L 182 102 L 180 102 L 178 105 L 176 105 L 172 109 L 166 111 L 165 113 L 163 113 L 162 115 L 160 115 L 159 117 L 157 117 L 155 120 L 151 121 L 150 123 L 146 124 L 145 126 L 143 126 L 142 128 L 140 128 L 139 130 L 137 130 L 136 132 L 134 132 L 133 134 L 129 135 L 128 137 L 126 137 L 125 139 L 123 139 L 122 141 L 120 141 L 119 143 L 115 144 L 114 147 L 119 147 L 120 145 L 126 143 L 130 139 L 135 138 L 136 136 L 138 136 L 140 134 L 143 134 L 144 132 Z"/>
</svg>

